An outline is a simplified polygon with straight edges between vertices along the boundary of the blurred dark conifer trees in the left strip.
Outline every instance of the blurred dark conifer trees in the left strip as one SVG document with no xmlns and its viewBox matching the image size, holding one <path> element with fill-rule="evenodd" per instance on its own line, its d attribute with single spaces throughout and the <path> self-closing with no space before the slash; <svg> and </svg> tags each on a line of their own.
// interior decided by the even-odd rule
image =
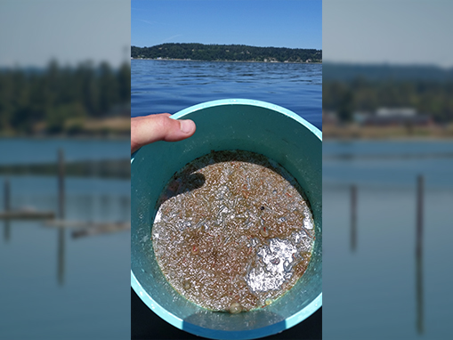
<svg viewBox="0 0 453 340">
<path fill-rule="evenodd" d="M 67 122 L 78 125 L 86 117 L 127 114 L 131 69 L 124 63 L 61 67 L 51 61 L 45 69 L 0 69 L 0 132 L 33 134 L 40 126 L 47 134 L 64 132 Z"/>
</svg>

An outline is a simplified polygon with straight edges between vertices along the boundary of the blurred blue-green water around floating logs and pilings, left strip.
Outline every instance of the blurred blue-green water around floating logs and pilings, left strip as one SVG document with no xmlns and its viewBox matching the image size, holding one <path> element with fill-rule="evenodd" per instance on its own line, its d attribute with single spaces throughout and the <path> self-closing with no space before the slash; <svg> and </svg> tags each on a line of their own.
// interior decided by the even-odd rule
<svg viewBox="0 0 453 340">
<path fill-rule="evenodd" d="M 0 140 L 1 163 L 54 161 L 59 148 L 73 159 L 93 157 L 96 150 L 109 158 L 125 158 L 129 142 Z M 15 158 L 20 153 L 21 158 Z M 58 210 L 56 177 L 8 178 L 13 209 Z M 0 176 L 0 210 L 4 180 Z M 67 177 L 65 188 L 69 221 L 130 219 L 127 180 Z M 0 220 L 0 338 L 129 338 L 129 270 L 129 231 L 75 239 L 72 230 L 61 234 L 43 221 Z"/>
</svg>

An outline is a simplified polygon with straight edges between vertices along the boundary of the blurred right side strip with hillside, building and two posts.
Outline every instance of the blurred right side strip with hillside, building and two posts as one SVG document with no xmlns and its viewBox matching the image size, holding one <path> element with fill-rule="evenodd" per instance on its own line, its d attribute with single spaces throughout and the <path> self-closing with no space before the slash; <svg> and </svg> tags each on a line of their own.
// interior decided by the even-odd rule
<svg viewBox="0 0 453 340">
<path fill-rule="evenodd" d="M 323 1 L 323 336 L 445 339 L 453 3 Z"/>
</svg>

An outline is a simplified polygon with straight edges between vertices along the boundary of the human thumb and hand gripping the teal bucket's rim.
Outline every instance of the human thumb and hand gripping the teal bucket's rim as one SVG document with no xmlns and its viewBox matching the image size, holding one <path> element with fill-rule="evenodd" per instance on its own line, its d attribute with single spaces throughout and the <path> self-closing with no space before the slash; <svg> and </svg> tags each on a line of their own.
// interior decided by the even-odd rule
<svg viewBox="0 0 453 340">
<path fill-rule="evenodd" d="M 195 133 L 190 119 L 176 120 L 169 113 L 131 118 L 131 153 L 157 141 L 177 142 Z"/>
</svg>

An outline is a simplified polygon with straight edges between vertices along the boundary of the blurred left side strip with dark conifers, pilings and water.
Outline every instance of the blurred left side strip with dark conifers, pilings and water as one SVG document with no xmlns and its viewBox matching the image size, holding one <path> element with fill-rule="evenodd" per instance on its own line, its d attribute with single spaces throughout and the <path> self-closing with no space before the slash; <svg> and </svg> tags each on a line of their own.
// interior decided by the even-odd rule
<svg viewBox="0 0 453 340">
<path fill-rule="evenodd" d="M 130 337 L 130 2 L 0 2 L 0 338 Z"/>
</svg>

